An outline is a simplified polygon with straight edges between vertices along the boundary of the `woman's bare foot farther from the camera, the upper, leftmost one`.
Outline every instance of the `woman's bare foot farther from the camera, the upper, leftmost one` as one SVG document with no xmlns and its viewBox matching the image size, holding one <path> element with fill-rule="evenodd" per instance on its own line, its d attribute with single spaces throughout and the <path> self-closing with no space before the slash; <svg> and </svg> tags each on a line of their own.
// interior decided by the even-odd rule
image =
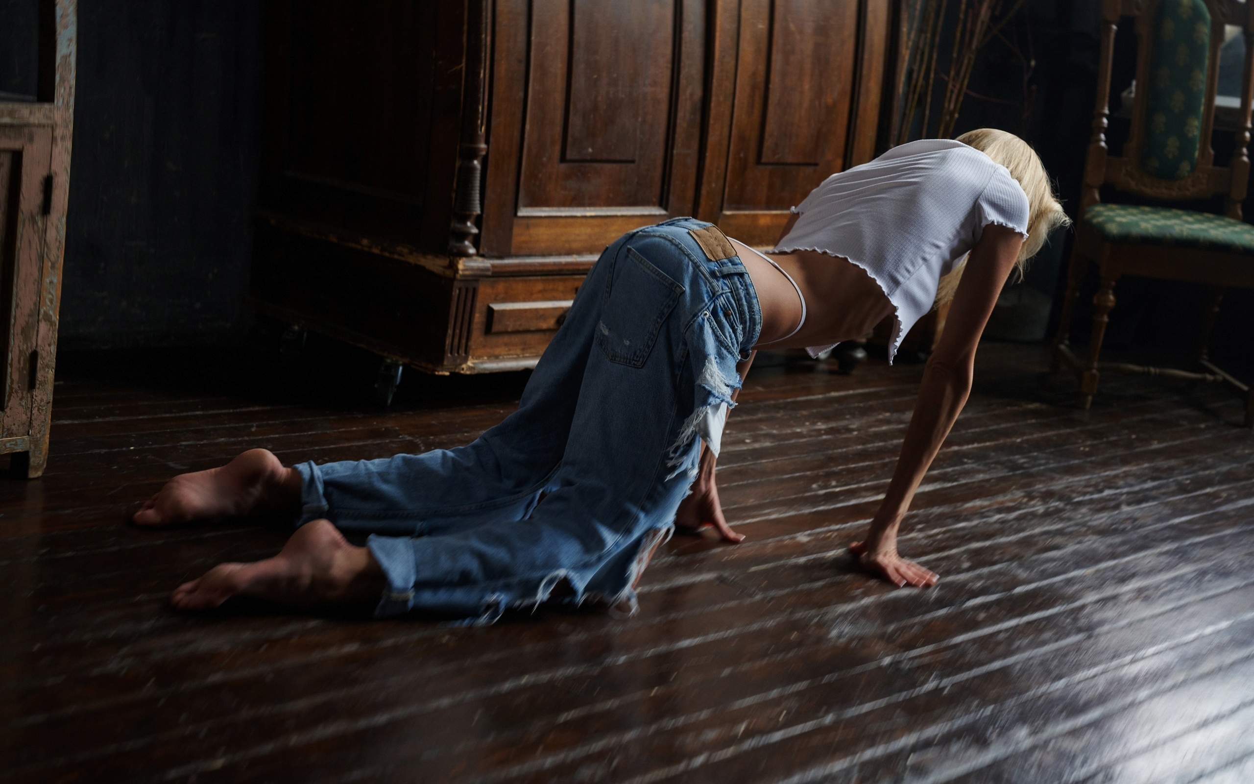
<svg viewBox="0 0 1254 784">
<path fill-rule="evenodd" d="M 250 449 L 221 468 L 179 474 L 144 502 L 138 526 L 169 526 L 196 519 L 245 517 L 257 512 L 296 512 L 301 477 L 268 449 Z"/>
</svg>

